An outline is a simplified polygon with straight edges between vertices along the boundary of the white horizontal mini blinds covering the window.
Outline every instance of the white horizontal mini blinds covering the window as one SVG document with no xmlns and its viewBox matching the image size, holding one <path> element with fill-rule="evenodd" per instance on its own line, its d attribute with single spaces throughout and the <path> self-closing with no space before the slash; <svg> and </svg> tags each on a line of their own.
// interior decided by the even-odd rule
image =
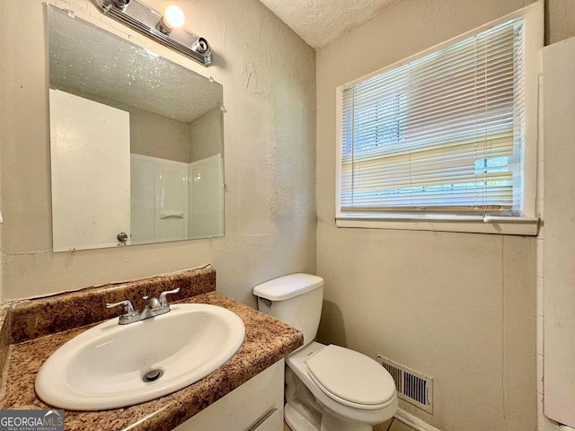
<svg viewBox="0 0 575 431">
<path fill-rule="evenodd" d="M 341 212 L 516 216 L 523 20 L 344 87 Z"/>
</svg>

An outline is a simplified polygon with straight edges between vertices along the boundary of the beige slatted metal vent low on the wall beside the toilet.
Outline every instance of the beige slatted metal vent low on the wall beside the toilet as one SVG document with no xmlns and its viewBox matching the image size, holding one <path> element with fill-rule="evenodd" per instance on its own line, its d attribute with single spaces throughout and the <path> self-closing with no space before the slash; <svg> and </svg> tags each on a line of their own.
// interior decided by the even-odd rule
<svg viewBox="0 0 575 431">
<path fill-rule="evenodd" d="M 392 374 L 395 389 L 402 400 L 433 414 L 433 379 L 377 355 L 377 362 Z"/>
</svg>

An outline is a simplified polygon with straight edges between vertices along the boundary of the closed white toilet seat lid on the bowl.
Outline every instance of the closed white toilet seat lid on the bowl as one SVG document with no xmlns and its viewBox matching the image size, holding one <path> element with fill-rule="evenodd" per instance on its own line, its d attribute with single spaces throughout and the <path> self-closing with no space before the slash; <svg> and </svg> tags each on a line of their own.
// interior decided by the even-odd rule
<svg viewBox="0 0 575 431">
<path fill-rule="evenodd" d="M 394 379 L 385 368 L 349 348 L 323 348 L 307 360 L 307 370 L 323 392 L 358 407 L 385 404 L 395 394 Z"/>
</svg>

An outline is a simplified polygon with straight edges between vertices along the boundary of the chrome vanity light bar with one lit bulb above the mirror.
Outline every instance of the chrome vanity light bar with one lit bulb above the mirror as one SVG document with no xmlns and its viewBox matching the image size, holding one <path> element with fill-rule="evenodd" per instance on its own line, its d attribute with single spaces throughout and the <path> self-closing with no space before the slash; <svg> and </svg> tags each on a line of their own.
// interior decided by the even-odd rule
<svg viewBox="0 0 575 431">
<path fill-rule="evenodd" d="M 208 40 L 183 28 L 183 12 L 176 5 L 168 6 L 164 13 L 139 0 L 95 0 L 102 13 L 128 25 L 132 30 L 190 57 L 204 66 L 212 64 L 214 54 Z"/>
</svg>

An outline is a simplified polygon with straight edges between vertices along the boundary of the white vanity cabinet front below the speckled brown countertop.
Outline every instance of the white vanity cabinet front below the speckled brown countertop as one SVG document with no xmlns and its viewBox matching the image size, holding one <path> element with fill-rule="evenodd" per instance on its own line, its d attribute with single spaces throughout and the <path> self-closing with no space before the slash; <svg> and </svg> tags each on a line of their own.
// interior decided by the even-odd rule
<svg viewBox="0 0 575 431">
<path fill-rule="evenodd" d="M 282 431 L 284 360 L 217 400 L 174 431 Z"/>
</svg>

